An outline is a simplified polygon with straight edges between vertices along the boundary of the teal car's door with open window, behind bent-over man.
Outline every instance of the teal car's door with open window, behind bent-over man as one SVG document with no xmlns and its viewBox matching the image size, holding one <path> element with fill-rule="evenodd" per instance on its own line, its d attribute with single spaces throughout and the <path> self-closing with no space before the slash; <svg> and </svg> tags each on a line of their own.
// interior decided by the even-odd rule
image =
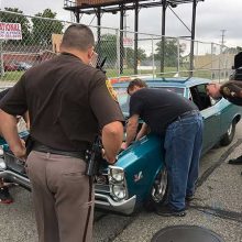
<svg viewBox="0 0 242 242">
<path fill-rule="evenodd" d="M 202 153 L 211 148 L 220 139 L 220 109 L 207 95 L 206 85 L 190 87 L 193 101 L 197 105 L 204 119 Z"/>
</svg>

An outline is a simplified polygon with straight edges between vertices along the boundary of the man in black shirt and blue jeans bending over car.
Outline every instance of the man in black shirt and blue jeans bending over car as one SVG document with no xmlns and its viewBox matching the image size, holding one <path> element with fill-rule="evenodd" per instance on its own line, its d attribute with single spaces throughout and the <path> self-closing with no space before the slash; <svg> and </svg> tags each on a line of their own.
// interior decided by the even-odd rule
<svg viewBox="0 0 242 242">
<path fill-rule="evenodd" d="M 165 135 L 165 163 L 168 173 L 168 204 L 157 208 L 161 216 L 185 216 L 185 198 L 191 199 L 198 177 L 198 163 L 202 143 L 202 118 L 197 107 L 175 92 L 146 88 L 140 79 L 128 87 L 130 119 L 127 127 L 127 148 L 141 139 L 150 128 Z M 145 123 L 136 135 L 139 118 Z"/>
</svg>

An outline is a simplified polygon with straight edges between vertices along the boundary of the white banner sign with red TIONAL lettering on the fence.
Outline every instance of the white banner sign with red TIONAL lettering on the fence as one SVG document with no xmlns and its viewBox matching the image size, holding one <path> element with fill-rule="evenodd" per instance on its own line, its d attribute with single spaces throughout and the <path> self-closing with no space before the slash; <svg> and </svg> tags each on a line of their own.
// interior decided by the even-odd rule
<svg viewBox="0 0 242 242">
<path fill-rule="evenodd" d="M 0 40 L 22 40 L 21 24 L 0 22 Z"/>
</svg>

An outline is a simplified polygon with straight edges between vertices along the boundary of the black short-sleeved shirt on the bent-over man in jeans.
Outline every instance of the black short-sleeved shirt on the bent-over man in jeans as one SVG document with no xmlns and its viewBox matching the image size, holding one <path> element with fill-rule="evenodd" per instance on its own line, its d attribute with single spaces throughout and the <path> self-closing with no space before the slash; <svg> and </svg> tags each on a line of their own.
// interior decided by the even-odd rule
<svg viewBox="0 0 242 242">
<path fill-rule="evenodd" d="M 198 108 L 188 99 L 163 89 L 142 88 L 130 99 L 130 116 L 139 114 L 152 132 L 164 134 L 178 116 Z"/>
</svg>

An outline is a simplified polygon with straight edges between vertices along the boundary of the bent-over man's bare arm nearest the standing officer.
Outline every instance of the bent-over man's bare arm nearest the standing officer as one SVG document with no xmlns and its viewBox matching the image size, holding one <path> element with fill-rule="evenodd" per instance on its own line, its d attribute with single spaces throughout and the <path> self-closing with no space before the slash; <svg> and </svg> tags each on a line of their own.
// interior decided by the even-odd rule
<svg viewBox="0 0 242 242">
<path fill-rule="evenodd" d="M 139 116 L 133 114 L 127 124 L 127 141 L 122 143 L 121 148 L 125 150 L 129 147 L 131 142 L 135 139 L 139 125 Z"/>
</svg>

